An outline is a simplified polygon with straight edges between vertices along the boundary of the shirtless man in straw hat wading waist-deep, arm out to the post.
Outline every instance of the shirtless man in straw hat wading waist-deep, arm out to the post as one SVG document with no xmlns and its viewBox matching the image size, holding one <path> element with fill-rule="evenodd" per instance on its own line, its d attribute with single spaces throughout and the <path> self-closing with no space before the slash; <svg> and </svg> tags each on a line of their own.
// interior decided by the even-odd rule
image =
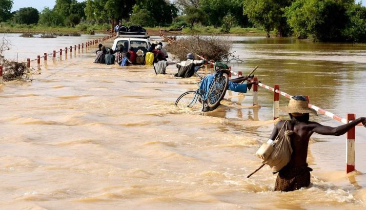
<svg viewBox="0 0 366 210">
<path fill-rule="evenodd" d="M 306 158 L 309 139 L 313 133 L 340 136 L 359 123 L 366 127 L 365 117 L 338 127 L 323 126 L 319 123 L 310 122 L 309 113 L 316 114 L 316 111 L 308 108 L 308 102 L 304 96 L 294 96 L 290 99 L 288 106 L 281 108 L 281 110 L 289 113 L 291 118 L 287 123 L 287 129 L 293 131 L 289 136 L 293 151 L 289 163 L 279 171 L 277 176 L 275 190 L 278 191 L 293 191 L 309 186 L 310 171 L 312 169 L 307 167 Z M 277 123 L 269 137 L 270 139 L 276 139 L 285 122 L 285 120 L 282 120 Z M 284 130 L 281 131 L 279 137 L 282 137 L 284 132 Z"/>
</svg>

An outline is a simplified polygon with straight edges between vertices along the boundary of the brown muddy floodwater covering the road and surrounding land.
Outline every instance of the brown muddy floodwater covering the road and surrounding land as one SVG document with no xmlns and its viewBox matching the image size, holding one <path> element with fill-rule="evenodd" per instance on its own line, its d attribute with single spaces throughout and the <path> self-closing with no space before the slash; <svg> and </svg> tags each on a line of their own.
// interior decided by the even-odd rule
<svg viewBox="0 0 366 210">
<path fill-rule="evenodd" d="M 1 35 L 3 36 L 3 35 Z M 101 36 L 21 38 L 18 61 Z M 152 37 L 153 39 L 158 37 Z M 366 45 L 232 37 L 244 63 L 234 71 L 346 117 L 366 116 Z M 105 43 L 111 46 L 112 42 Z M 309 188 L 274 192 L 276 175 L 254 156 L 270 135 L 273 93 L 227 92 L 202 114 L 174 106 L 197 77 L 155 75 L 151 67 L 92 63 L 95 48 L 53 63 L 31 83 L 0 86 L 0 209 L 4 210 L 359 210 L 366 208 L 366 128 L 356 128 L 356 169 L 346 174 L 346 135 L 313 135 Z M 36 66 L 36 63 L 32 63 Z M 204 72 L 201 72 L 204 74 Z M 281 96 L 280 105 L 288 100 Z M 280 112 L 282 118 L 286 113 Z M 327 126 L 341 123 L 324 115 Z"/>
</svg>

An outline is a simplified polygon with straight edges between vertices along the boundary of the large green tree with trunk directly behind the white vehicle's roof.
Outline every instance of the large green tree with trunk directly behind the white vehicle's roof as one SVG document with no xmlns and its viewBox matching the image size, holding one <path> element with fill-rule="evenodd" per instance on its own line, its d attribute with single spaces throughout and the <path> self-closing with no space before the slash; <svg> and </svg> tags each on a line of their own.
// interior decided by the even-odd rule
<svg viewBox="0 0 366 210">
<path fill-rule="evenodd" d="M 128 19 L 135 0 L 87 0 L 85 15 L 88 20 L 110 21 L 112 31 L 119 20 Z"/>
</svg>

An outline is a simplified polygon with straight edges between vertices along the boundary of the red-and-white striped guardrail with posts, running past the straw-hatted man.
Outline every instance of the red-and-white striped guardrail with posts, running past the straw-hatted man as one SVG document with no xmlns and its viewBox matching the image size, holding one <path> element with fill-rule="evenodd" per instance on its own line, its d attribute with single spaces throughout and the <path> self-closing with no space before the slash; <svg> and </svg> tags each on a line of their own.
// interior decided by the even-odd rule
<svg viewBox="0 0 366 210">
<path fill-rule="evenodd" d="M 258 78 L 253 78 L 253 81 L 258 81 Z M 259 83 L 258 85 L 253 86 L 253 105 L 258 105 L 258 86 L 263 87 L 264 89 L 270 90 L 273 92 L 273 119 L 277 119 L 279 117 L 279 101 L 280 101 L 280 95 L 284 96 L 285 98 L 292 98 L 293 96 L 290 94 L 287 94 L 283 91 L 280 91 L 280 85 L 275 84 L 274 87 L 270 87 L 268 85 Z M 309 98 L 307 97 L 309 100 Z M 316 105 L 312 105 L 309 103 L 309 108 L 315 109 L 317 112 L 324 114 L 336 121 L 339 121 L 341 123 L 348 123 L 352 120 L 356 119 L 355 114 L 347 114 L 346 118 L 342 118 L 338 115 L 335 115 L 331 112 L 326 111 L 325 109 L 322 109 Z M 362 126 L 362 124 L 358 124 L 357 126 Z M 352 172 L 355 170 L 355 136 L 356 136 L 356 129 L 355 127 L 351 128 L 347 132 L 347 144 L 346 144 L 346 173 Z"/>
</svg>

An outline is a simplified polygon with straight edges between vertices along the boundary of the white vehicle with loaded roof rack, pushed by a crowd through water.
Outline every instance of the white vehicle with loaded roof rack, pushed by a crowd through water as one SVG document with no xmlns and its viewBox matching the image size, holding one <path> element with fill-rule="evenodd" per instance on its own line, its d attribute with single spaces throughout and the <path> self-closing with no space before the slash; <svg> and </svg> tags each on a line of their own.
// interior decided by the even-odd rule
<svg viewBox="0 0 366 210">
<path fill-rule="evenodd" d="M 128 52 L 130 47 L 133 47 L 135 52 L 141 49 L 143 53 L 146 53 L 149 44 L 150 40 L 146 32 L 117 32 L 117 38 L 113 42 L 112 49 L 118 50 L 122 46 L 123 52 Z"/>
</svg>

